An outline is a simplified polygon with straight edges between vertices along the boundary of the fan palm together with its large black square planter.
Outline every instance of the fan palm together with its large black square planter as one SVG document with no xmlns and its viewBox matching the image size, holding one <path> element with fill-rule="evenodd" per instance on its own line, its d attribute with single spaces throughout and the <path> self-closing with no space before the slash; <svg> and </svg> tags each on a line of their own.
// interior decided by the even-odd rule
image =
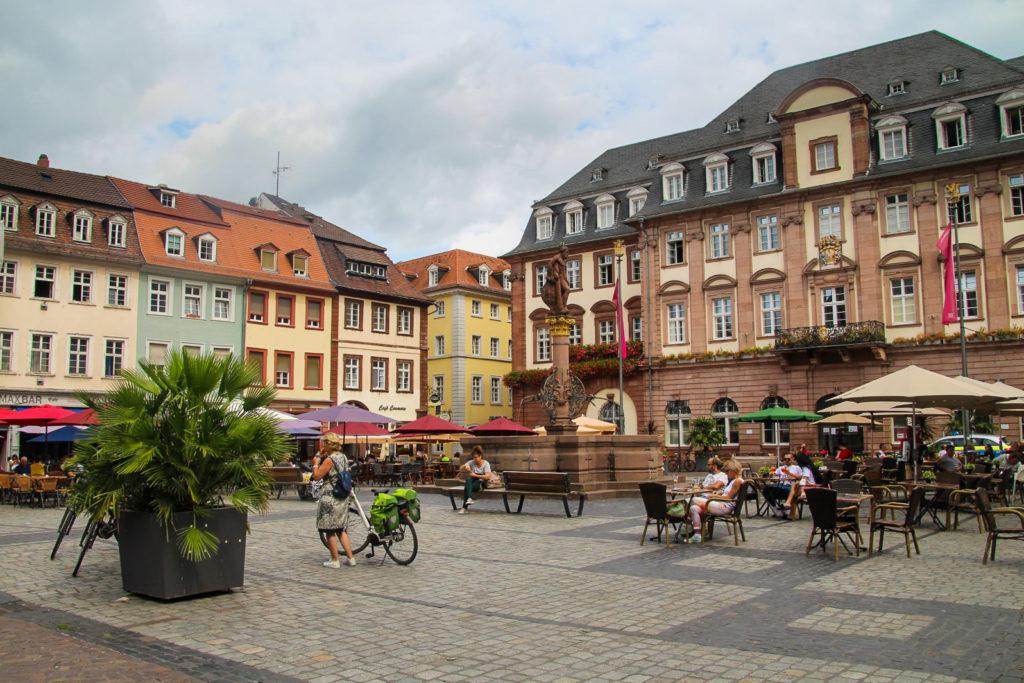
<svg viewBox="0 0 1024 683">
<path fill-rule="evenodd" d="M 288 451 L 265 411 L 274 390 L 233 356 L 140 361 L 86 399 L 99 425 L 76 445 L 76 505 L 118 519 L 126 591 L 161 599 L 243 585 L 248 513 L 269 500 L 267 462 Z"/>
</svg>

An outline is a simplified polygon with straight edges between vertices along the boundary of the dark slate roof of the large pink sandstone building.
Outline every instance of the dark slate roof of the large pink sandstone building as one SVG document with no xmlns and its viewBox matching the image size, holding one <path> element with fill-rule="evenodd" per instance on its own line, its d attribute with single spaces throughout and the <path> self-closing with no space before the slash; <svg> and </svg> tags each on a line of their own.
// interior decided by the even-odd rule
<svg viewBox="0 0 1024 683">
<path fill-rule="evenodd" d="M 656 216 L 692 208 L 728 204 L 736 201 L 763 198 L 781 191 L 780 184 L 751 187 L 751 147 L 759 142 L 771 141 L 779 146 L 780 133 L 777 123 L 768 122 L 768 114 L 773 113 L 782 100 L 798 87 L 818 78 L 837 78 L 850 82 L 873 100 L 878 117 L 888 116 L 923 106 L 931 102 L 948 99 L 964 99 L 973 92 L 1009 87 L 1021 82 L 1018 59 L 1004 61 L 970 45 L 962 43 L 937 31 L 901 38 L 872 45 L 852 52 L 846 52 L 806 63 L 780 69 L 769 75 L 742 97 L 715 117 L 703 128 L 666 135 L 621 147 L 608 150 L 572 177 L 562 183 L 544 200 L 535 204 L 555 211 L 555 234 L 551 241 L 537 242 L 535 220 L 530 216 L 519 245 L 506 256 L 528 253 L 554 247 L 562 241 L 566 244 L 593 242 L 616 233 L 631 233 L 628 225 L 617 224 L 608 230 L 596 230 L 590 223 L 594 221 L 593 197 L 608 193 L 624 202 L 625 193 L 644 185 L 649 189 L 647 203 L 641 216 Z M 961 72 L 956 83 L 940 85 L 939 72 L 946 67 L 955 67 Z M 888 95 L 889 84 L 893 81 L 906 82 L 906 93 Z M 982 98 L 984 99 L 984 98 Z M 994 100 L 994 97 L 991 98 Z M 906 115 L 910 128 L 916 128 L 911 135 L 911 159 L 894 165 L 872 167 L 872 173 L 904 172 L 923 167 L 941 166 L 969 159 L 998 154 L 1008 151 L 1008 143 L 998 144 L 996 113 L 994 105 L 982 100 L 965 102 L 974 113 L 969 124 L 975 138 L 968 150 L 936 154 L 934 129 L 931 145 L 926 144 L 930 112 Z M 988 108 L 988 109 L 986 109 Z M 726 132 L 726 123 L 738 119 L 739 132 Z M 993 133 L 993 131 L 996 131 Z M 916 138 L 916 145 L 914 139 Z M 1020 142 L 1013 144 L 1019 152 Z M 995 145 L 995 146 L 993 146 Z M 737 150 L 737 147 L 739 147 Z M 743 148 L 745 147 L 745 148 Z M 876 146 L 877 148 L 877 146 Z M 734 184 L 730 191 L 716 196 L 705 196 L 703 157 L 721 151 L 729 153 L 732 163 Z M 648 168 L 648 160 L 659 157 L 660 163 L 682 161 L 686 166 L 687 187 L 684 200 L 671 204 L 662 203 L 662 181 L 657 168 Z M 777 175 L 782 176 L 781 155 L 776 155 Z M 592 180 L 592 171 L 603 170 L 600 180 Z M 582 198 L 589 198 L 582 199 Z M 564 220 L 561 206 L 572 199 L 580 199 L 588 216 L 587 229 L 583 234 L 564 234 Z M 589 210 L 588 210 L 589 209 Z"/>
</svg>

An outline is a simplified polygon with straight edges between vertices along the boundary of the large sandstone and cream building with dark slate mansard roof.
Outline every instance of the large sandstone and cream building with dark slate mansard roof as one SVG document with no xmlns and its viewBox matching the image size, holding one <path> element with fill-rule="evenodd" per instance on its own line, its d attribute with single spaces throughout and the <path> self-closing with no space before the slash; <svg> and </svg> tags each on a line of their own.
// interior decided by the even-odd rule
<svg viewBox="0 0 1024 683">
<path fill-rule="evenodd" d="M 1024 58 L 929 32 L 782 69 L 702 128 L 609 150 L 535 203 L 504 257 L 513 365 L 548 365 L 540 287 L 562 244 L 575 341 L 614 338 L 603 321 L 624 240 L 627 334 L 644 345 L 627 433 L 684 447 L 691 417 L 712 416 L 726 451 L 823 443 L 808 425 L 734 417 L 813 411 L 909 364 L 959 374 L 958 327 L 941 323 L 947 222 L 970 374 L 1024 386 Z M 611 415 L 615 383 L 588 380 Z M 1020 436 L 1018 419 L 996 423 Z M 863 447 L 891 428 L 838 438 Z"/>
</svg>

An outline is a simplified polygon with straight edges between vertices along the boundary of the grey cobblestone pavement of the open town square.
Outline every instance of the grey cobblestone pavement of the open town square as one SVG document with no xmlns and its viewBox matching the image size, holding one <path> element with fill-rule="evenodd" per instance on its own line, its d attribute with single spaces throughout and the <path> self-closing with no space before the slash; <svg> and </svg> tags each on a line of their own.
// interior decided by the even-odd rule
<svg viewBox="0 0 1024 683">
<path fill-rule="evenodd" d="M 72 579 L 77 537 L 48 559 L 60 511 L 3 506 L 0 637 L 55 652 L 18 665 L 47 680 L 75 663 L 102 680 L 102 657 L 113 680 L 1024 680 L 1024 544 L 983 566 L 970 523 L 925 525 L 909 560 L 894 542 L 834 562 L 804 556 L 808 520 L 641 547 L 639 500 L 574 519 L 499 506 L 426 497 L 413 565 L 327 569 L 313 507 L 276 501 L 252 520 L 245 589 L 174 603 L 122 591 L 113 541 Z"/>
</svg>

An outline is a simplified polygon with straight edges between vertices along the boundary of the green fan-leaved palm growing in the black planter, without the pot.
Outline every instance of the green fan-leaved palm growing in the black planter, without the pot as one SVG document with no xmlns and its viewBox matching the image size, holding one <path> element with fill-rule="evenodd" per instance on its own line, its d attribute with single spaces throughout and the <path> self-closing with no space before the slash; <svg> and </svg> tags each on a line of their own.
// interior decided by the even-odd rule
<svg viewBox="0 0 1024 683">
<path fill-rule="evenodd" d="M 76 444 L 81 465 L 75 505 L 93 519 L 120 510 L 157 515 L 193 561 L 217 552 L 218 539 L 197 522 L 212 509 L 261 512 L 269 500 L 267 462 L 288 452 L 265 409 L 272 387 L 255 367 L 228 356 L 171 353 L 166 366 L 140 361 L 99 398 L 83 397 L 99 426 Z M 173 528 L 175 512 L 191 523 Z"/>
</svg>

